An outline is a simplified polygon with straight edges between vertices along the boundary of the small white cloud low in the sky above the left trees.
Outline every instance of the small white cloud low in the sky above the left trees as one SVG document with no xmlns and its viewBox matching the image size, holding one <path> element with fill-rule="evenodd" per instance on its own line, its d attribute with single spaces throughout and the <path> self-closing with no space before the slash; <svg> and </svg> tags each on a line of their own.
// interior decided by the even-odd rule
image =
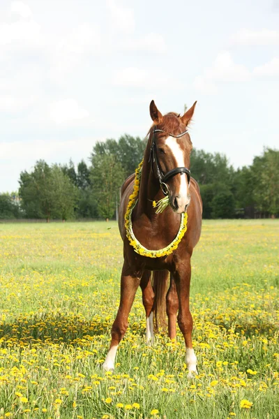
<svg viewBox="0 0 279 419">
<path fill-rule="evenodd" d="M 56 124 L 70 124 L 77 119 L 89 116 L 88 110 L 80 107 L 75 99 L 63 99 L 56 101 L 49 108 L 50 119 Z"/>
</svg>

